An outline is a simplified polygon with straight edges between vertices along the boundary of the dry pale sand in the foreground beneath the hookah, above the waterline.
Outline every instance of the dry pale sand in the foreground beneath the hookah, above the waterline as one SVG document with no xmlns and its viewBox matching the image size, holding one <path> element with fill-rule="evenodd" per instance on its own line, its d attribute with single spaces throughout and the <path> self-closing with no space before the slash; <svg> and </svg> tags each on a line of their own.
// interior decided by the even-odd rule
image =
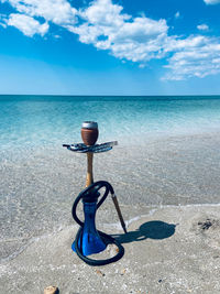
<svg viewBox="0 0 220 294">
<path fill-rule="evenodd" d="M 164 207 L 118 233 L 124 257 L 85 264 L 70 244 L 76 227 L 43 236 L 1 265 L 0 293 L 220 293 L 220 207 Z M 207 224 L 211 224 L 210 226 Z M 114 252 L 111 252 L 113 254 Z"/>
</svg>

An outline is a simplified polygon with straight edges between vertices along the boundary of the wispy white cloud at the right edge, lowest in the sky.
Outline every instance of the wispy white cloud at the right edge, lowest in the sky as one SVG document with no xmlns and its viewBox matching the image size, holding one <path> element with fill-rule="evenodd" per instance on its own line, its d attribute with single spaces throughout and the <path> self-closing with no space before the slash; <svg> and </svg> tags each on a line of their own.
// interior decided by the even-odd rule
<svg viewBox="0 0 220 294">
<path fill-rule="evenodd" d="M 176 48 L 165 66 L 169 73 L 164 79 L 180 80 L 190 77 L 206 77 L 220 73 L 220 42 L 213 37 L 189 36 L 175 40 Z"/>
</svg>

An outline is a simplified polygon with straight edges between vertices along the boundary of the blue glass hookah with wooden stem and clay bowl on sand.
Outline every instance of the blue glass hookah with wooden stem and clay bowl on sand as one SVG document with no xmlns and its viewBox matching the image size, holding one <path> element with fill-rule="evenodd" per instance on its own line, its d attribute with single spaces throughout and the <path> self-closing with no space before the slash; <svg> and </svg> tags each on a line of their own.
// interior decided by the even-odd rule
<svg viewBox="0 0 220 294">
<path fill-rule="evenodd" d="M 113 145 L 118 144 L 117 141 L 96 144 L 98 135 L 99 135 L 98 123 L 94 121 L 85 121 L 81 127 L 81 139 L 84 143 L 70 144 L 70 145 L 63 144 L 63 146 L 67 148 L 70 151 L 87 153 L 86 188 L 81 190 L 79 195 L 76 197 L 72 208 L 73 218 L 80 226 L 76 235 L 76 239 L 72 244 L 72 249 L 77 253 L 77 255 L 82 261 L 85 261 L 89 265 L 109 264 L 111 262 L 118 261 L 124 254 L 124 248 L 118 240 L 96 229 L 96 224 L 95 224 L 96 211 L 106 200 L 109 193 L 111 194 L 111 198 L 117 209 L 122 229 L 127 233 L 125 224 L 113 187 L 111 186 L 110 183 L 106 181 L 98 181 L 94 183 L 94 174 L 92 174 L 94 153 L 107 152 L 111 150 Z M 101 199 L 99 199 L 98 202 L 98 198 L 100 197 L 99 190 L 102 188 L 105 188 L 105 193 Z M 84 205 L 84 216 L 85 216 L 84 222 L 78 218 L 76 213 L 77 206 L 80 200 L 82 202 Z M 114 243 L 118 247 L 118 253 L 114 257 L 106 260 L 94 260 L 88 258 L 88 255 L 90 254 L 103 251 L 110 243 Z"/>
</svg>

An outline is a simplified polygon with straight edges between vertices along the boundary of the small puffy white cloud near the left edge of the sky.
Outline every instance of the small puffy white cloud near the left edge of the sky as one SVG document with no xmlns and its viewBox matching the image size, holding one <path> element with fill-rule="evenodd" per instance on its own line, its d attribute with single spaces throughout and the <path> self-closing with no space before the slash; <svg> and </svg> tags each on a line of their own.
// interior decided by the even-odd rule
<svg viewBox="0 0 220 294">
<path fill-rule="evenodd" d="M 33 36 L 34 34 L 43 36 L 48 31 L 46 22 L 41 24 L 33 18 L 20 13 L 11 13 L 7 23 L 8 25 L 15 26 L 28 36 Z"/>
</svg>

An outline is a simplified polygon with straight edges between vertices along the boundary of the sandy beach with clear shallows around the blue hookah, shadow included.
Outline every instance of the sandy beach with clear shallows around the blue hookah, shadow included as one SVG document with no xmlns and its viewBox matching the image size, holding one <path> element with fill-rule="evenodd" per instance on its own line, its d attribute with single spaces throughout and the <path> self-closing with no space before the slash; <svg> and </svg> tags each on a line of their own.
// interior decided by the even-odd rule
<svg viewBox="0 0 220 294">
<path fill-rule="evenodd" d="M 97 225 L 125 254 L 101 268 L 70 250 L 86 156 L 1 151 L 0 293 L 219 293 L 219 133 L 170 137 L 95 155 L 95 181 L 112 184 L 129 228 L 123 236 L 109 197 Z"/>
</svg>

